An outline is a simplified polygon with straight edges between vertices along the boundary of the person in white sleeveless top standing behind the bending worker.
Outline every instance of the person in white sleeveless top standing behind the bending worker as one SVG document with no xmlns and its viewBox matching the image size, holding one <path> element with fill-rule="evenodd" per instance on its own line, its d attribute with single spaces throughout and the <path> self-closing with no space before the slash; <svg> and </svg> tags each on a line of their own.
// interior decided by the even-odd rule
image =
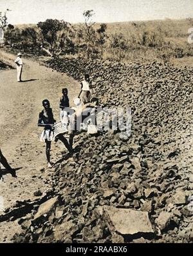
<svg viewBox="0 0 193 256">
<path fill-rule="evenodd" d="M 82 103 L 86 104 L 91 101 L 91 82 L 89 79 L 89 74 L 84 75 L 84 80 L 81 82 L 81 90 L 80 94 L 82 94 Z M 78 95 L 78 98 L 80 97 Z"/>
</svg>

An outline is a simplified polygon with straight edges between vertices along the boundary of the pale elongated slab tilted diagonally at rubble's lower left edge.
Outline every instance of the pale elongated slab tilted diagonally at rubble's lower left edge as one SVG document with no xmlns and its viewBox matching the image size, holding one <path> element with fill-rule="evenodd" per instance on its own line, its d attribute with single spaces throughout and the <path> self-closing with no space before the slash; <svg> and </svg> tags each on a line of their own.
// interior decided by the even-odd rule
<svg viewBox="0 0 193 256">
<path fill-rule="evenodd" d="M 55 208 L 57 201 L 58 201 L 58 196 L 53 197 L 53 198 L 49 199 L 48 201 L 44 202 L 43 204 L 41 204 L 39 206 L 39 209 L 38 209 L 37 213 L 35 214 L 33 220 L 41 217 L 44 214 L 48 215 L 49 213 L 51 213 L 53 211 L 53 209 Z"/>
</svg>

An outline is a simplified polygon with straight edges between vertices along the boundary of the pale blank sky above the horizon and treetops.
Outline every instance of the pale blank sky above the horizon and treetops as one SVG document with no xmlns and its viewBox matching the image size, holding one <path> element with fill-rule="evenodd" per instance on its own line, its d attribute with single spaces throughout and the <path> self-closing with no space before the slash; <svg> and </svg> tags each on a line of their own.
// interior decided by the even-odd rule
<svg viewBox="0 0 193 256">
<path fill-rule="evenodd" d="M 193 17 L 193 0 L 0 0 L 9 8 L 8 23 L 36 24 L 46 19 L 84 22 L 84 10 L 94 10 L 98 23 L 184 19 Z"/>
</svg>

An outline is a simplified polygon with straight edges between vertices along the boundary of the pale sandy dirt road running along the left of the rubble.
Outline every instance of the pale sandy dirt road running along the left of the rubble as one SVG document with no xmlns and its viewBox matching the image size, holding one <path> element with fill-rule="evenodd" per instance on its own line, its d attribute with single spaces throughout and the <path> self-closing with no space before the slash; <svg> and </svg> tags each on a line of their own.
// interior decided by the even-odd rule
<svg viewBox="0 0 193 256">
<path fill-rule="evenodd" d="M 0 56 L 14 63 L 14 55 L 0 52 Z M 79 90 L 77 81 L 67 75 L 35 61 L 23 61 L 23 83 L 17 83 L 15 69 L 0 72 L 0 144 L 10 164 L 19 168 L 16 179 L 4 172 L 0 181 L 5 208 L 12 207 L 16 201 L 33 200 L 37 198 L 33 195 L 35 191 L 48 189 L 44 183 L 48 173 L 41 172 L 46 166 L 44 143 L 39 142 L 42 128 L 37 127 L 42 99 L 50 100 L 55 119 L 59 120 L 62 88 L 68 88 L 71 104 Z M 57 152 L 59 148 L 63 148 L 62 144 L 53 143 L 52 151 Z M 57 157 L 60 158 L 60 153 Z M 17 222 L 0 223 L 0 242 L 10 241 L 13 228 L 17 231 Z"/>
</svg>

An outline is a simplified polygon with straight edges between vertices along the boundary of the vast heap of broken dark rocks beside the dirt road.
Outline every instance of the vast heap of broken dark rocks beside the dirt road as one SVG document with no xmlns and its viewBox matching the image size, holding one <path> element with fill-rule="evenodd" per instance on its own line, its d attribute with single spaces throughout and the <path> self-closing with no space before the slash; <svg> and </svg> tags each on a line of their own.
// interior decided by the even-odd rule
<svg viewBox="0 0 193 256">
<path fill-rule="evenodd" d="M 77 80 L 88 72 L 102 106 L 131 107 L 132 133 L 77 135 L 73 158 L 51 170 L 53 197 L 21 221 L 15 241 L 192 241 L 192 68 L 82 59 L 46 64 Z"/>
</svg>

